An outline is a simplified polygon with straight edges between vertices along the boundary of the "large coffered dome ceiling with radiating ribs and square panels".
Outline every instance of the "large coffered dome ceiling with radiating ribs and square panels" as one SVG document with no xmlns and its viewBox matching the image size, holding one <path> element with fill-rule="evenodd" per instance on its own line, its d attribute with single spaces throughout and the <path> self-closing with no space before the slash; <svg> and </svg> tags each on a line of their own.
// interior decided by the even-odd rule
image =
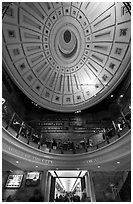
<svg viewBox="0 0 133 204">
<path fill-rule="evenodd" d="M 72 112 L 104 99 L 130 62 L 123 3 L 13 3 L 3 19 L 3 61 L 35 103 Z"/>
</svg>

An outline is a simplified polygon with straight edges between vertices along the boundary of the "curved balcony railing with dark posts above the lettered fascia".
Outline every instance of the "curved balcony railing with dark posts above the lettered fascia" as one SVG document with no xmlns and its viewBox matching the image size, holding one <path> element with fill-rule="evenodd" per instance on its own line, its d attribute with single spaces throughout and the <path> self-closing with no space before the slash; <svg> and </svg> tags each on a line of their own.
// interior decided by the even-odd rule
<svg viewBox="0 0 133 204">
<path fill-rule="evenodd" d="M 14 137 L 20 141 L 31 145 L 34 148 L 44 152 L 55 154 L 81 154 L 100 149 L 115 140 L 119 139 L 130 129 L 130 113 L 123 115 L 114 128 L 103 129 L 103 132 L 96 132 L 89 138 L 83 138 L 81 141 L 62 141 L 44 137 L 39 131 L 27 125 L 12 109 L 8 102 L 2 105 L 2 125 Z M 102 140 L 95 141 L 94 137 L 102 137 Z"/>
</svg>

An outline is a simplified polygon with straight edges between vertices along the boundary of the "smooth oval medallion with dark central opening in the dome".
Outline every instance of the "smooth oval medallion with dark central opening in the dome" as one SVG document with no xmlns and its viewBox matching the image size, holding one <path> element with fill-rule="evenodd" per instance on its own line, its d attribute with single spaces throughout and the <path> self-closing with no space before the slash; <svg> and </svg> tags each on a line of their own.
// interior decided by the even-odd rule
<svg viewBox="0 0 133 204">
<path fill-rule="evenodd" d="M 83 29 L 76 19 L 71 16 L 59 19 L 49 36 L 51 55 L 56 63 L 70 72 L 70 68 L 76 66 L 84 54 L 84 38 Z"/>
</svg>

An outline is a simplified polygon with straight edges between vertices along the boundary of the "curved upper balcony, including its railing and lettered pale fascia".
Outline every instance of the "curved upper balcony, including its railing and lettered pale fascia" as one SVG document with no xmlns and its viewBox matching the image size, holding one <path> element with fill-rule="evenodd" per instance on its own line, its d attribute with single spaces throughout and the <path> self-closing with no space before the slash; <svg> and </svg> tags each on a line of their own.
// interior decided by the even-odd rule
<svg viewBox="0 0 133 204">
<path fill-rule="evenodd" d="M 3 155 L 11 154 L 13 157 L 46 165 L 50 169 L 86 169 L 88 166 L 91 168 L 114 160 L 130 160 L 130 114 L 119 117 L 119 123 L 113 122 L 113 128 L 101 128 L 99 132 L 95 128 L 91 137 L 86 137 L 83 141 L 73 140 L 73 146 L 70 145 L 70 140 L 44 137 L 22 121 L 7 102 L 3 103 L 2 123 Z"/>
</svg>

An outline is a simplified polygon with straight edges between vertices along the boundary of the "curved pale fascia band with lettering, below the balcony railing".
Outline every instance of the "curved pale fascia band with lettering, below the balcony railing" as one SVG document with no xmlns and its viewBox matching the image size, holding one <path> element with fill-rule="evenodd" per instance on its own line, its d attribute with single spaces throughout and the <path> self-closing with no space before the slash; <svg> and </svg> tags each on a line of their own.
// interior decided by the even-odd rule
<svg viewBox="0 0 133 204">
<path fill-rule="evenodd" d="M 131 131 L 128 131 L 121 138 L 113 143 L 93 152 L 86 152 L 74 155 L 62 155 L 46 153 L 35 149 L 15 137 L 7 130 L 2 129 L 2 152 L 7 155 L 19 157 L 29 162 L 36 162 L 49 166 L 49 168 L 84 168 L 113 160 L 119 160 L 131 154 Z"/>
</svg>

